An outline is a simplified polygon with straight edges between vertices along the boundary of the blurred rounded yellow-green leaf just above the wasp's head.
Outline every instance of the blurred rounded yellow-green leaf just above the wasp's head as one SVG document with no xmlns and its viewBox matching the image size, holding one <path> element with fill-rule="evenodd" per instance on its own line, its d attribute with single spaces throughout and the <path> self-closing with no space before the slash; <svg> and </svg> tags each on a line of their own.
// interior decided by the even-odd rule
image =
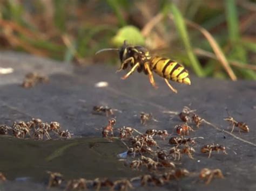
<svg viewBox="0 0 256 191">
<path fill-rule="evenodd" d="M 111 43 L 114 46 L 122 46 L 124 40 L 127 40 L 127 43 L 134 45 L 144 45 L 145 39 L 140 33 L 140 30 L 135 26 L 125 26 L 117 31 L 116 36 L 111 40 Z"/>
</svg>

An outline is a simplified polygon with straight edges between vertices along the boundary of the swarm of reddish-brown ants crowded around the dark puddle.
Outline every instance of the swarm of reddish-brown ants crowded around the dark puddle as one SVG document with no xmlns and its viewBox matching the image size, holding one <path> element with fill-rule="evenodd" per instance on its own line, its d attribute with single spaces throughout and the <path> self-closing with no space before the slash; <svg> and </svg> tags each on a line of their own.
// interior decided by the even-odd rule
<svg viewBox="0 0 256 191">
<path fill-rule="evenodd" d="M 111 109 L 104 106 L 95 106 L 93 107 L 94 114 L 104 114 L 107 117 L 113 116 L 116 109 Z M 116 181 L 111 181 L 109 178 L 95 180 L 86 180 L 84 178 L 69 180 L 66 184 L 66 190 L 83 190 L 87 188 L 96 188 L 100 190 L 102 187 L 108 187 L 110 190 L 128 190 L 132 189 L 134 181 L 140 181 L 141 186 L 154 185 L 154 186 L 163 186 L 171 180 L 180 180 L 185 176 L 190 176 L 193 173 L 190 173 L 185 168 L 177 168 L 174 161 L 179 161 L 181 155 L 188 155 L 189 158 L 193 159 L 193 153 L 195 152 L 192 147 L 196 143 L 196 139 L 203 137 L 195 138 L 185 138 L 188 136 L 191 131 L 195 131 L 188 123 L 194 123 L 197 128 L 205 122 L 205 119 L 199 117 L 196 113 L 196 110 L 191 110 L 188 107 L 184 107 L 183 110 L 178 115 L 180 120 L 185 122 L 182 125 L 176 125 L 175 131 L 177 136 L 172 136 L 173 133 L 169 134 L 166 130 L 156 130 L 156 129 L 147 129 L 145 133 L 141 133 L 135 128 L 124 126 L 123 128 L 117 129 L 118 136 L 114 137 L 114 125 L 116 124 L 116 119 L 111 118 L 108 121 L 108 124 L 102 128 L 102 137 L 109 140 L 118 138 L 122 143 L 127 147 L 126 155 L 131 155 L 131 157 L 137 157 L 137 160 L 128 161 L 127 159 L 120 159 L 120 161 L 125 161 L 125 165 L 129 166 L 132 169 L 139 170 L 145 167 L 150 173 L 144 174 L 138 177 L 129 179 L 120 179 Z M 173 112 L 171 112 L 173 114 Z M 147 121 L 156 119 L 153 118 L 152 114 L 146 114 L 142 112 L 140 114 L 140 123 L 146 125 Z M 237 122 L 233 117 L 229 116 L 224 118 L 225 121 L 228 121 L 232 125 L 233 132 L 234 128 L 237 127 L 240 131 L 249 132 L 248 125 L 244 122 Z M 71 138 L 71 134 L 68 130 L 61 130 L 60 124 L 58 122 L 43 123 L 41 119 L 32 118 L 28 122 L 14 122 L 12 128 L 7 125 L 0 125 L 0 135 L 7 135 L 10 130 L 12 130 L 13 135 L 17 138 L 24 138 L 26 135 L 31 136 L 31 129 L 33 129 L 33 138 L 44 140 L 51 139 L 50 132 L 57 134 L 60 138 Z M 134 136 L 133 134 L 137 135 Z M 169 144 L 172 145 L 169 152 L 163 150 L 158 143 L 156 142 L 156 137 L 165 140 L 169 138 Z M 211 157 L 212 151 L 222 151 L 226 153 L 226 147 L 219 144 L 208 144 L 201 147 L 201 153 L 208 153 L 208 158 Z M 123 153 L 124 154 L 124 153 Z M 161 172 L 161 173 L 159 173 Z M 56 187 L 62 185 L 64 179 L 63 175 L 58 172 L 50 172 L 48 187 Z M 213 178 L 224 179 L 224 175 L 220 169 L 209 169 L 203 168 L 199 173 L 199 180 L 205 181 L 206 184 L 210 183 Z M 5 176 L 0 172 L 0 181 L 5 181 Z"/>
</svg>

